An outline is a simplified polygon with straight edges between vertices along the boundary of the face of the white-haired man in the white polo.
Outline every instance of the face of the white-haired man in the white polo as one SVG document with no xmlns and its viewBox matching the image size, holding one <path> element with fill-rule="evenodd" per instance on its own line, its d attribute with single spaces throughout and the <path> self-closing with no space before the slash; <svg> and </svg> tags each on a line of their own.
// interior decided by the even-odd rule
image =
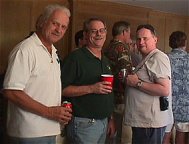
<svg viewBox="0 0 189 144">
<path fill-rule="evenodd" d="M 53 44 L 65 34 L 69 24 L 69 17 L 61 10 L 56 10 L 43 24 L 42 36 L 45 43 Z"/>
</svg>

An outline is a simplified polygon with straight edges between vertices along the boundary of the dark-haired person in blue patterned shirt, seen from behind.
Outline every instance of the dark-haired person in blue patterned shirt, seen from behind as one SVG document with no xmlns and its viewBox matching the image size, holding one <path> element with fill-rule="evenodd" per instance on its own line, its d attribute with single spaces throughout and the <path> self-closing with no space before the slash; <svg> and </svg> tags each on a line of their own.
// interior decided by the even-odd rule
<svg viewBox="0 0 189 144">
<path fill-rule="evenodd" d="M 189 55 L 186 52 L 187 35 L 182 31 L 174 31 L 169 37 L 169 46 L 172 48 L 168 56 L 172 68 L 175 143 L 186 144 L 186 136 L 189 132 Z"/>
</svg>

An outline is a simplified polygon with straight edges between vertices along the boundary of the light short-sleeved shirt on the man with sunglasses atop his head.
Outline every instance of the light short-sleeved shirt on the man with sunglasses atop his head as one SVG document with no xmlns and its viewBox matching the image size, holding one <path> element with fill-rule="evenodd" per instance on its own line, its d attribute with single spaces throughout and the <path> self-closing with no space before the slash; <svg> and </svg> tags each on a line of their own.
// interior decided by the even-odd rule
<svg viewBox="0 0 189 144">
<path fill-rule="evenodd" d="M 159 78 L 171 78 L 170 61 L 166 54 L 157 52 L 137 71 L 138 77 L 149 83 Z M 170 86 L 171 92 L 171 86 Z M 160 96 L 151 96 L 134 87 L 126 90 L 125 123 L 132 127 L 163 127 L 173 123 L 172 98 L 169 98 L 169 109 L 160 110 Z"/>
</svg>

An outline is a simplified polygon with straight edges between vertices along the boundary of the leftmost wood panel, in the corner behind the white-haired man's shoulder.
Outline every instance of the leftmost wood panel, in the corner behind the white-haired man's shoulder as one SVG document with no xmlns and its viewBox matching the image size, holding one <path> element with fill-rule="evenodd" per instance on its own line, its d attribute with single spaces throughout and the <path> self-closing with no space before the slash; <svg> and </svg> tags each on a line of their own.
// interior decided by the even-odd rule
<svg viewBox="0 0 189 144">
<path fill-rule="evenodd" d="M 9 52 L 30 31 L 31 4 L 31 1 L 1 1 L 1 73 L 6 68 Z"/>
</svg>

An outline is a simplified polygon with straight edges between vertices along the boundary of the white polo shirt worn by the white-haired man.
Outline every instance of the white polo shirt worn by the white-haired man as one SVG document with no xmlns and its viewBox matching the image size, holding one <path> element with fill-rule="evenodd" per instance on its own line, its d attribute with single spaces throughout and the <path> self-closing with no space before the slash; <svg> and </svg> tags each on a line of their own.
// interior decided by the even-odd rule
<svg viewBox="0 0 189 144">
<path fill-rule="evenodd" d="M 56 49 L 52 56 L 34 33 L 11 52 L 4 89 L 23 90 L 46 106 L 61 105 L 60 64 Z M 8 104 L 8 134 L 14 137 L 42 137 L 60 133 L 58 122 Z"/>
</svg>

